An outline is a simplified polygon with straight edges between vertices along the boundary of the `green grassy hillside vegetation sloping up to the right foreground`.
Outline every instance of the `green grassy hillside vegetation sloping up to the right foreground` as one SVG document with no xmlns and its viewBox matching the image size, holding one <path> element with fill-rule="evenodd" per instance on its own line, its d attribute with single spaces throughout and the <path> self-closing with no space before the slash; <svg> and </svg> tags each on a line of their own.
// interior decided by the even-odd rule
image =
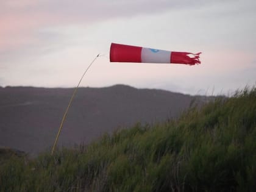
<svg viewBox="0 0 256 192">
<path fill-rule="evenodd" d="M 254 191 L 255 138 L 254 87 L 89 146 L 11 155 L 0 161 L 0 191 Z"/>
</svg>

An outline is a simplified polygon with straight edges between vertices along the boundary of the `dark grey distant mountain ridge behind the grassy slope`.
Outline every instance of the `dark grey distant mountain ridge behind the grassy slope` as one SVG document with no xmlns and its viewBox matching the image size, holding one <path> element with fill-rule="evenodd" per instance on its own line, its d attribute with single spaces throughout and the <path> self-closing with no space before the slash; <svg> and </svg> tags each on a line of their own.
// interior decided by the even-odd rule
<svg viewBox="0 0 256 192">
<path fill-rule="evenodd" d="M 0 146 L 37 154 L 49 149 L 73 88 L 0 88 Z M 176 118 L 205 97 L 127 85 L 79 88 L 60 134 L 59 146 L 89 143 L 104 132 L 137 122 Z"/>
</svg>

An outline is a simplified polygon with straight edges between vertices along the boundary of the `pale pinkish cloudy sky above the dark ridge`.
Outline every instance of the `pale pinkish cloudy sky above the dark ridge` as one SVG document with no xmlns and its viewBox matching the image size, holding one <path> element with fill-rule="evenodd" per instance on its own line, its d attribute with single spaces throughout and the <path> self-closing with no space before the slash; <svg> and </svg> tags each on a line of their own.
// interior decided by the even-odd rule
<svg viewBox="0 0 256 192">
<path fill-rule="evenodd" d="M 232 94 L 256 83 L 254 0 L 0 1 L 0 86 L 126 84 Z M 110 63 L 111 43 L 202 52 L 201 65 Z"/>
</svg>

